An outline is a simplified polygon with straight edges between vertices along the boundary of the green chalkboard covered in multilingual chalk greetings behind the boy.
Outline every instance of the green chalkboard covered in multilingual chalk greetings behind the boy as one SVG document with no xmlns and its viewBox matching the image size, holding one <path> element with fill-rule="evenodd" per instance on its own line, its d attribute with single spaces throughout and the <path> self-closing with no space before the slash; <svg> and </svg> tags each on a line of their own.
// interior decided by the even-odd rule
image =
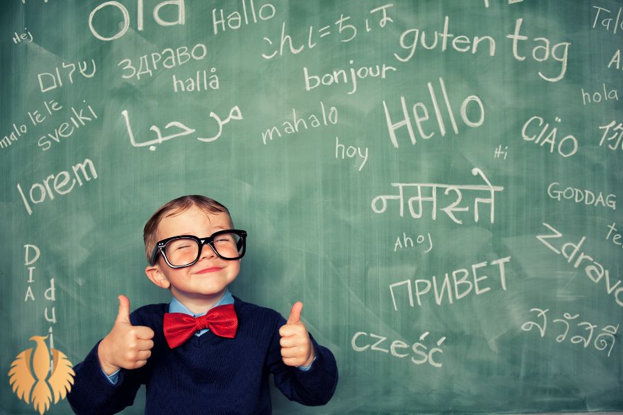
<svg viewBox="0 0 623 415">
<path fill-rule="evenodd" d="M 0 413 L 35 412 L 22 351 L 170 300 L 142 229 L 184 194 L 249 232 L 232 293 L 336 356 L 276 414 L 623 410 L 619 1 L 10 0 L 0 33 Z"/>
</svg>

